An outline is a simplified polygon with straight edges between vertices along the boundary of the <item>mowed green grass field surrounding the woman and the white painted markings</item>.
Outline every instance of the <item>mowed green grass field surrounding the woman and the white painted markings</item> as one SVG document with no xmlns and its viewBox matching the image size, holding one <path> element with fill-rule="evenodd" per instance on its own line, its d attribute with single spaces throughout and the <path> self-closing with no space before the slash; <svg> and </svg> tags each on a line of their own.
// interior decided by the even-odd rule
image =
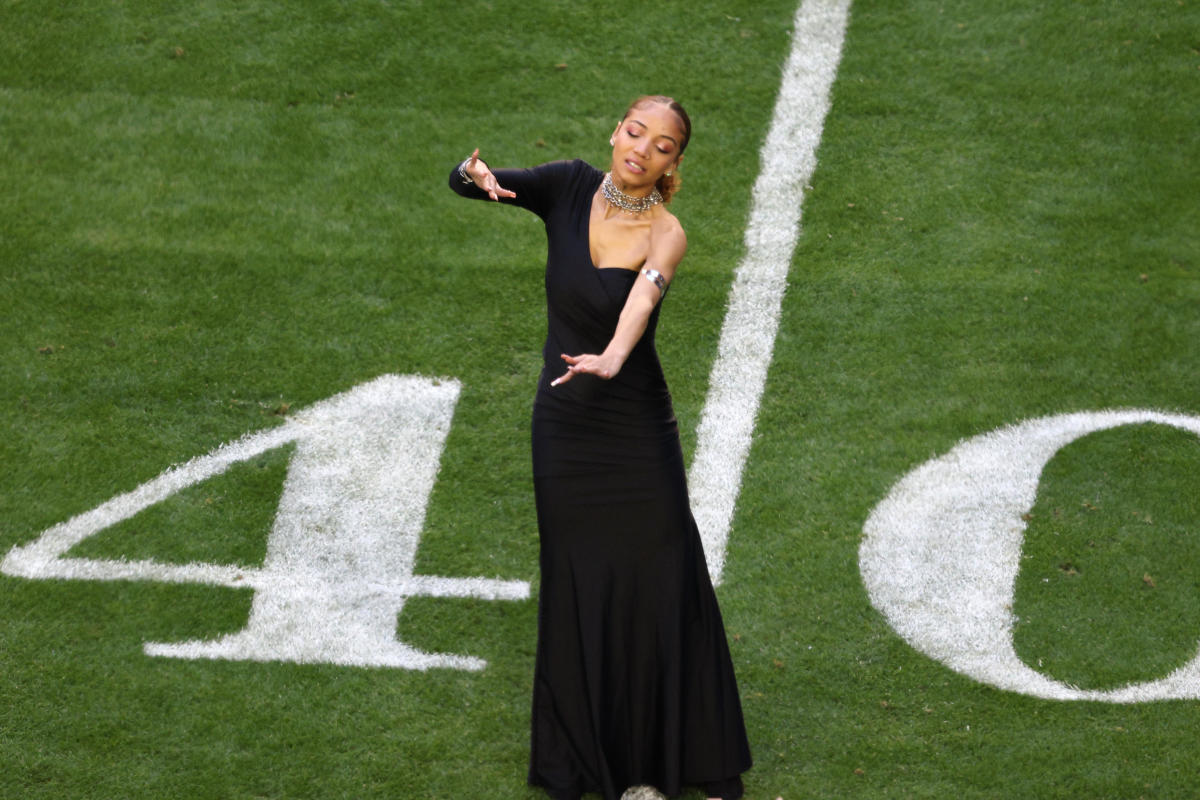
<svg viewBox="0 0 1200 800">
<path fill-rule="evenodd" d="M 659 329 L 695 428 L 796 5 L 0 2 L 0 552 L 379 375 L 462 384 L 418 572 L 529 581 L 541 227 L 445 187 L 583 157 L 632 97 L 695 122 Z M 901 639 L 864 521 L 964 438 L 1200 414 L 1194 0 L 856 1 L 719 597 L 748 798 L 1189 798 L 1200 700 L 1052 702 Z M 260 565 L 280 449 L 72 555 Z M 1048 465 L 1021 658 L 1110 688 L 1200 643 L 1200 441 Z M 0 576 L 0 796 L 536 798 L 536 608 L 410 600 L 481 672 L 150 657 L 253 593 Z"/>
</svg>

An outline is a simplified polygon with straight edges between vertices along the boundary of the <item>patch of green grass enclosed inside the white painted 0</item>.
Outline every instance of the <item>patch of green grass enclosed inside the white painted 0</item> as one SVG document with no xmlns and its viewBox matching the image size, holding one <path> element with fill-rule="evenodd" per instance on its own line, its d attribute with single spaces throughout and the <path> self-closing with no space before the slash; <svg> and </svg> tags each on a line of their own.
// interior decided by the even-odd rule
<svg viewBox="0 0 1200 800">
<path fill-rule="evenodd" d="M 1016 636 L 1027 663 L 1102 688 L 1195 655 L 1198 482 L 1196 438 L 1174 428 L 1118 428 L 1063 449 L 1042 479 L 1018 587 L 1016 614 L 1036 609 Z"/>
</svg>

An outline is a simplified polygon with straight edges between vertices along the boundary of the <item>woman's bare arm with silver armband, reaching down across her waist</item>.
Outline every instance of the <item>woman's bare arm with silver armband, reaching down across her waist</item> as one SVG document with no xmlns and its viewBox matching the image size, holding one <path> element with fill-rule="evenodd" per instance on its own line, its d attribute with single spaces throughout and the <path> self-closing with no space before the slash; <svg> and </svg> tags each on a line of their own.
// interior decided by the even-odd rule
<svg viewBox="0 0 1200 800">
<path fill-rule="evenodd" d="M 563 361 L 568 363 L 566 372 L 551 381 L 551 386 L 565 384 L 580 373 L 587 373 L 608 380 L 614 378 L 625 365 L 629 354 L 646 332 L 650 312 L 662 299 L 671 278 L 674 277 L 676 267 L 683 260 L 683 254 L 688 249 L 688 237 L 683 233 L 679 223 L 671 217 L 670 224 L 662 230 L 654 231 L 650 241 L 650 254 L 646 259 L 642 273 L 634 278 L 634 288 L 629 290 L 625 306 L 620 309 L 620 318 L 617 320 L 617 330 L 608 342 L 604 353 L 594 355 L 586 353 L 582 355 L 563 354 Z M 658 278 L 648 276 L 658 272 Z M 661 281 L 661 283 L 659 283 Z"/>
</svg>

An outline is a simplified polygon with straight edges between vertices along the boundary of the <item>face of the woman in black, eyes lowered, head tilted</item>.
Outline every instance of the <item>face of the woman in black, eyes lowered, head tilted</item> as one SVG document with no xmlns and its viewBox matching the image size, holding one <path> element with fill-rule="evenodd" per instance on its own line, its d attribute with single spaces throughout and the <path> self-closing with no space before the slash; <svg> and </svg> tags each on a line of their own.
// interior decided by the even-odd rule
<svg viewBox="0 0 1200 800">
<path fill-rule="evenodd" d="M 654 186 L 668 169 L 679 166 L 683 124 L 668 106 L 648 103 L 635 108 L 612 134 L 612 175 L 625 188 Z"/>
</svg>

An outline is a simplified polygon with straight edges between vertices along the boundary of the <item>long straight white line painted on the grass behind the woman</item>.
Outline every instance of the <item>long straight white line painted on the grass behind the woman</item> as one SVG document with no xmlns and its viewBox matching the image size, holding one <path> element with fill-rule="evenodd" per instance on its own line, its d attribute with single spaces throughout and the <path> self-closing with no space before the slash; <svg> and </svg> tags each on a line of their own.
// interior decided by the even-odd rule
<svg viewBox="0 0 1200 800">
<path fill-rule="evenodd" d="M 841 59 L 850 0 L 804 0 L 767 140 L 760 152 L 745 255 L 730 289 L 716 361 L 688 480 L 714 584 L 767 381 L 787 269 L 800 230 L 804 188 L 816 168 L 829 90 Z"/>
</svg>

